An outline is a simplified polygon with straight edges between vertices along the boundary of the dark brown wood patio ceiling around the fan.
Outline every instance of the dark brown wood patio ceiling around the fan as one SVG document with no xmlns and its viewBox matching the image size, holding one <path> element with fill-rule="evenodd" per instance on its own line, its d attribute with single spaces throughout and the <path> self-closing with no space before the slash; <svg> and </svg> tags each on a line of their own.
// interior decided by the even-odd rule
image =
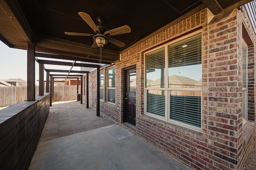
<svg viewBox="0 0 256 170">
<path fill-rule="evenodd" d="M 92 37 L 68 36 L 64 32 L 94 34 L 78 12 L 89 14 L 96 25 L 104 18 L 107 30 L 128 25 L 131 32 L 112 38 L 124 42 L 118 47 L 110 42 L 102 50 L 102 63 L 119 59 L 150 34 L 160 32 L 167 24 L 208 7 L 216 16 L 251 0 L 0 0 L 0 40 L 9 47 L 26 49 L 27 42 L 36 45 L 36 56 L 75 61 L 96 62 L 99 47 L 92 48 Z M 218 17 L 216 17 L 218 19 Z M 39 53 L 40 52 L 40 53 Z M 52 54 L 44 54 L 52 53 Z M 54 54 L 54 55 L 53 55 Z"/>
</svg>

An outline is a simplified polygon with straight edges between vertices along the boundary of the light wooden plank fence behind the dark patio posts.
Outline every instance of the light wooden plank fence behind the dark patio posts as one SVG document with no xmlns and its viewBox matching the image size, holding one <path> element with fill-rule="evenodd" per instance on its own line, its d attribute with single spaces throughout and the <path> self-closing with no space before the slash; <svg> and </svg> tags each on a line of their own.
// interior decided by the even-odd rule
<svg viewBox="0 0 256 170">
<path fill-rule="evenodd" d="M 44 87 L 46 91 L 46 87 Z M 80 86 L 79 91 L 80 93 Z M 39 87 L 36 86 L 36 96 Z M 27 87 L 0 87 L 0 107 L 14 105 L 27 99 Z M 70 101 L 77 99 L 77 86 L 54 86 L 54 101 Z"/>
</svg>

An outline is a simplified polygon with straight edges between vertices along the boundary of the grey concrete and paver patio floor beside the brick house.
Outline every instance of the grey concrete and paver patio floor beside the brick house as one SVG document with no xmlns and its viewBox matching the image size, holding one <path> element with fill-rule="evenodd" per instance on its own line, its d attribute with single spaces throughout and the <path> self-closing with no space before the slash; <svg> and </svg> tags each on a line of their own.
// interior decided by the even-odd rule
<svg viewBox="0 0 256 170">
<path fill-rule="evenodd" d="M 29 170 L 188 170 L 154 146 L 77 101 L 55 102 Z"/>
</svg>

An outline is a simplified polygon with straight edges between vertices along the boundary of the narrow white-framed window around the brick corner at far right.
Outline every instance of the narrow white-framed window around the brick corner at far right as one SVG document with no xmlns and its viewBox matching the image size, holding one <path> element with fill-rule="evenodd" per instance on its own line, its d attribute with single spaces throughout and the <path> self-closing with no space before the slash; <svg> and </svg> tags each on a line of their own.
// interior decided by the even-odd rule
<svg viewBox="0 0 256 170">
<path fill-rule="evenodd" d="M 242 87 L 242 120 L 244 124 L 248 121 L 248 45 L 244 40 L 242 40 L 242 44 L 246 47 L 246 88 Z"/>
</svg>

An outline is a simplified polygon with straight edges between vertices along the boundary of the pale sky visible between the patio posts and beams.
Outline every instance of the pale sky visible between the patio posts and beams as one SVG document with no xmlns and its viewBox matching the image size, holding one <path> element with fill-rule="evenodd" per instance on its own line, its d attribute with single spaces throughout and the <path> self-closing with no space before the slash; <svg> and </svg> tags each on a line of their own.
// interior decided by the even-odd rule
<svg viewBox="0 0 256 170">
<path fill-rule="evenodd" d="M 43 59 L 38 57 L 39 59 Z M 47 59 L 54 61 L 68 61 L 61 59 Z M 63 65 L 44 65 L 46 69 L 65 69 L 69 70 L 70 66 Z M 80 70 L 80 67 L 73 67 L 72 70 Z M 53 73 L 55 74 L 55 73 Z M 66 74 L 66 73 L 57 73 Z M 9 48 L 0 41 L 0 79 L 18 79 L 21 78 L 27 81 L 27 51 L 22 49 Z M 39 65 L 35 62 L 35 78 L 36 85 L 39 80 Z M 46 72 L 44 71 L 44 80 L 46 80 Z"/>
</svg>

